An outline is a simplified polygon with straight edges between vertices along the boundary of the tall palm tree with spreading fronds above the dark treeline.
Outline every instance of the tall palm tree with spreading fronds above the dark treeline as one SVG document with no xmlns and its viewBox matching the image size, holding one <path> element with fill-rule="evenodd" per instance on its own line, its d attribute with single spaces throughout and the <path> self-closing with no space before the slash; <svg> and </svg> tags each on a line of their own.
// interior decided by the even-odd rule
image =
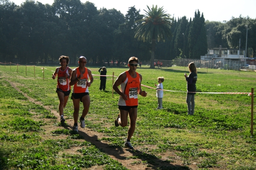
<svg viewBox="0 0 256 170">
<path fill-rule="evenodd" d="M 156 40 L 159 42 L 162 40 L 172 38 L 172 23 L 173 18 L 170 18 L 169 14 L 163 10 L 163 7 L 157 8 L 157 5 L 152 8 L 148 8 L 145 14 L 142 15 L 143 19 L 137 20 L 140 25 L 136 28 L 135 38 L 138 40 L 149 41 L 152 44 L 150 68 L 154 68 L 154 51 L 156 48 Z"/>
</svg>

